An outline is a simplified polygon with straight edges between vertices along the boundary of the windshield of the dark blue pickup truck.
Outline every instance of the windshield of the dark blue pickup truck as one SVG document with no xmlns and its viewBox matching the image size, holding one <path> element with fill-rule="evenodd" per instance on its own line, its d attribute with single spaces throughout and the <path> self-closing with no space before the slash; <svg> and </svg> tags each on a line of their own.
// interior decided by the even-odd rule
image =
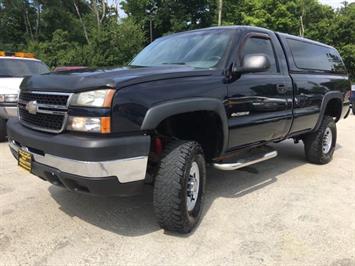
<svg viewBox="0 0 355 266">
<path fill-rule="evenodd" d="M 130 65 L 187 65 L 213 68 L 223 58 L 232 31 L 200 31 L 161 38 L 141 51 Z"/>
</svg>

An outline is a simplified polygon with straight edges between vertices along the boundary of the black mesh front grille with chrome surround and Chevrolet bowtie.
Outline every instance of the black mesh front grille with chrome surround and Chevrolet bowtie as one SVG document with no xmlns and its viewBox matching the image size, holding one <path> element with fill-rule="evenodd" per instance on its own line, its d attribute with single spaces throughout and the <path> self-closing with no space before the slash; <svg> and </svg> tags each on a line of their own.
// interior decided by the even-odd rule
<svg viewBox="0 0 355 266">
<path fill-rule="evenodd" d="M 21 92 L 18 102 L 21 123 L 40 131 L 62 132 L 67 121 L 69 97 L 62 93 Z"/>
</svg>

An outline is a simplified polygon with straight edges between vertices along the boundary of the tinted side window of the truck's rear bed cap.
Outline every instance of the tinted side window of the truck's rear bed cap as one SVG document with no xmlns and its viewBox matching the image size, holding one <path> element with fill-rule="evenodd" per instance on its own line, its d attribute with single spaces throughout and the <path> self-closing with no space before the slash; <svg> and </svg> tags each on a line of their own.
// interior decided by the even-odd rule
<svg viewBox="0 0 355 266">
<path fill-rule="evenodd" d="M 287 39 L 298 68 L 344 73 L 345 67 L 334 48 Z"/>
</svg>

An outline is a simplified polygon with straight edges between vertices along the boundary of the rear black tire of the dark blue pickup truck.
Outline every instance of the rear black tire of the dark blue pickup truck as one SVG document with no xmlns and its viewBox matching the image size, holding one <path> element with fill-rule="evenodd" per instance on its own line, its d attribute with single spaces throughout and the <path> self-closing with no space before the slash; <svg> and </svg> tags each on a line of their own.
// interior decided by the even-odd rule
<svg viewBox="0 0 355 266">
<path fill-rule="evenodd" d="M 331 148 L 327 153 L 323 151 L 324 135 L 329 128 L 332 133 Z M 337 128 L 333 117 L 324 116 L 319 129 L 313 133 L 307 134 L 303 138 L 306 158 L 314 164 L 327 164 L 333 159 L 337 140 Z"/>
</svg>

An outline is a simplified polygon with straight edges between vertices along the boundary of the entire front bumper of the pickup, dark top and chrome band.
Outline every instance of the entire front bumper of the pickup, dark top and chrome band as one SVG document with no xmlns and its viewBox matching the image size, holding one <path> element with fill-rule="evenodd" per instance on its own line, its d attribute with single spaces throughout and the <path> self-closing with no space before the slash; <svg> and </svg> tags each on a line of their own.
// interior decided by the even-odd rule
<svg viewBox="0 0 355 266">
<path fill-rule="evenodd" d="M 16 119 L 8 121 L 8 136 L 13 155 L 17 158 L 18 150 L 25 149 L 32 155 L 32 173 L 55 185 L 97 195 L 131 195 L 144 184 L 149 136 L 52 135 Z"/>
</svg>

